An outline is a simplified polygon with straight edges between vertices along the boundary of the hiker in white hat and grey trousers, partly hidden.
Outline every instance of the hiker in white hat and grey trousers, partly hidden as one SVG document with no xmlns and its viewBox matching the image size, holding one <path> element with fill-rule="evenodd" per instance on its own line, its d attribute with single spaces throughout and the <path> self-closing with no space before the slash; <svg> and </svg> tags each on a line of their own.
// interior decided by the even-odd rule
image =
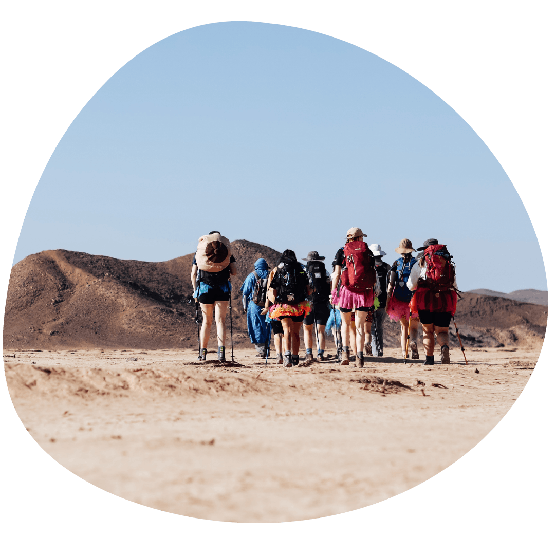
<svg viewBox="0 0 555 555">
<path fill-rule="evenodd" d="M 382 260 L 387 253 L 381 249 L 377 243 L 372 243 L 369 247 L 374 255 L 374 265 L 376 268 L 377 279 L 380 282 L 380 295 L 374 300 L 374 305 L 370 307 L 364 326 L 365 344 L 364 352 L 367 355 L 384 355 L 384 318 L 385 306 L 387 304 L 387 274 L 391 266 Z M 376 306 L 377 305 L 377 306 Z M 373 323 L 372 323 L 373 321 Z M 377 336 L 376 336 L 377 332 Z"/>
</svg>

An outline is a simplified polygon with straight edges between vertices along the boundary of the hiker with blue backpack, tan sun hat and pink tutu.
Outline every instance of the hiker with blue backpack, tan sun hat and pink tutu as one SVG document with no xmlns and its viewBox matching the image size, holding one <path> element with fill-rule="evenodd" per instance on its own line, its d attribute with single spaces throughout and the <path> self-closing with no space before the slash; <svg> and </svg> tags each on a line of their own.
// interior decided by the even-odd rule
<svg viewBox="0 0 555 555">
<path fill-rule="evenodd" d="M 401 257 L 391 265 L 387 283 L 385 311 L 391 321 L 400 322 L 401 324 L 401 349 L 403 357 L 407 351 L 407 336 L 410 336 L 408 346 L 411 350 L 411 359 L 420 359 L 416 342 L 420 320 L 418 319 L 418 312 L 416 310 L 411 312 L 408 306 L 412 299 L 412 291 L 407 286 L 408 276 L 410 276 L 411 269 L 416 264 L 416 259 L 412 256 L 412 253 L 415 253 L 416 250 L 412 248 L 412 243 L 409 239 L 402 239 L 395 252 L 400 254 Z M 408 329 L 409 320 L 410 330 Z"/>
</svg>

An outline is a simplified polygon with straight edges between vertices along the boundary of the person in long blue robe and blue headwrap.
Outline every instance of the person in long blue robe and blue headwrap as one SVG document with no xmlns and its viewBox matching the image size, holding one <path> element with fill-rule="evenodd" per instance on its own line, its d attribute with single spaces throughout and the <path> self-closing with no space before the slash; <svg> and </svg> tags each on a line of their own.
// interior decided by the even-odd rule
<svg viewBox="0 0 555 555">
<path fill-rule="evenodd" d="M 270 337 L 271 327 L 266 317 L 261 314 L 266 302 L 266 278 L 268 278 L 268 263 L 259 258 L 254 263 L 254 272 L 246 276 L 241 293 L 243 293 L 243 312 L 246 314 L 246 327 L 250 342 L 254 344 L 257 358 L 266 357 L 266 345 Z M 269 349 L 269 345 L 268 345 Z"/>
</svg>

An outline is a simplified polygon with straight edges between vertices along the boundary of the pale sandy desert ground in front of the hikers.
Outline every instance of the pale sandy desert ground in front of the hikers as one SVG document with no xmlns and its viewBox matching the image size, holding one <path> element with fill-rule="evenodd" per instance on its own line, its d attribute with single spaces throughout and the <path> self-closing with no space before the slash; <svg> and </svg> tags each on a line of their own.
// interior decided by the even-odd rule
<svg viewBox="0 0 555 555">
<path fill-rule="evenodd" d="M 162 511 L 282 522 L 365 507 L 441 472 L 503 418 L 539 352 L 468 349 L 465 365 L 452 347 L 453 364 L 429 367 L 386 349 L 364 369 L 290 370 L 251 349 L 235 350 L 235 365 L 214 353 L 198 363 L 191 349 L 3 355 L 24 426 L 75 475 Z"/>
</svg>

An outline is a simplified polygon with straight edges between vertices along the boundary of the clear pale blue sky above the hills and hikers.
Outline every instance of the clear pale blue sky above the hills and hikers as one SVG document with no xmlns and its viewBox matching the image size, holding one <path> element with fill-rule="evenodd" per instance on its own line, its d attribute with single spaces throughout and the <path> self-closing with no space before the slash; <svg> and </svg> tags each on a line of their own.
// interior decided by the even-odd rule
<svg viewBox="0 0 555 555">
<path fill-rule="evenodd" d="M 462 290 L 547 289 L 507 174 L 430 89 L 336 38 L 213 23 L 138 54 L 85 105 L 14 263 L 46 249 L 168 260 L 214 229 L 331 263 L 351 226 L 390 263 L 402 238 L 446 243 Z"/>
</svg>

